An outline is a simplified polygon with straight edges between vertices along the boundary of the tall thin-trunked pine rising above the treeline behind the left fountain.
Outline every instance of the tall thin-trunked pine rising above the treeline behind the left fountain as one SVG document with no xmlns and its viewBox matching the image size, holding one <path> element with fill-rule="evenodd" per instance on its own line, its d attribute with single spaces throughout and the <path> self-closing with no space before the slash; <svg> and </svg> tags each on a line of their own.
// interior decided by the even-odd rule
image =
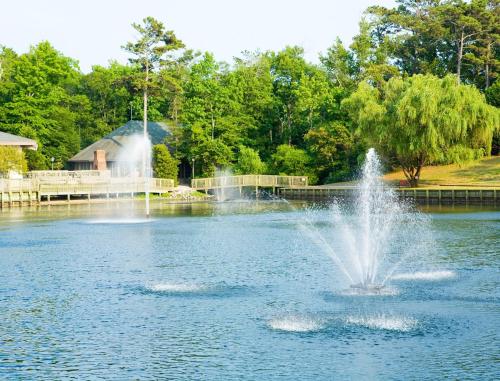
<svg viewBox="0 0 500 381">
<path fill-rule="evenodd" d="M 128 42 L 123 48 L 135 56 L 130 62 L 138 65 L 143 76 L 136 78 L 136 86 L 143 93 L 144 136 L 147 136 L 148 95 L 157 88 L 155 71 L 169 52 L 181 49 L 184 44 L 178 40 L 173 31 L 165 31 L 165 26 L 153 17 L 146 17 L 143 25 L 133 23 L 132 27 L 139 32 L 136 42 Z"/>
</svg>

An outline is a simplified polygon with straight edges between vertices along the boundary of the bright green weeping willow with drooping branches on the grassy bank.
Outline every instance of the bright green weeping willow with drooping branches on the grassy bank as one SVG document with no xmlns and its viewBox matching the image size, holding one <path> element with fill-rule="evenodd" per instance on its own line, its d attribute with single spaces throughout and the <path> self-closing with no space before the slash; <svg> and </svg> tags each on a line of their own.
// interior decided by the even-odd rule
<svg viewBox="0 0 500 381">
<path fill-rule="evenodd" d="M 411 186 L 424 165 L 460 163 L 491 152 L 499 112 L 454 76 L 392 78 L 382 89 L 368 83 L 344 100 L 358 133 L 395 159 Z"/>
</svg>

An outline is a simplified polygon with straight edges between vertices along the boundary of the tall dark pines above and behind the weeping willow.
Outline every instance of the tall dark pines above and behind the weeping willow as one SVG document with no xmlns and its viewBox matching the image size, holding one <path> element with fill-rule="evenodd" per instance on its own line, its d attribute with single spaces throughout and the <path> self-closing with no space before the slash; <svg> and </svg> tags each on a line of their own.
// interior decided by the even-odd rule
<svg viewBox="0 0 500 381">
<path fill-rule="evenodd" d="M 372 35 L 389 46 L 408 75 L 455 73 L 488 88 L 498 74 L 500 13 L 496 0 L 398 0 L 395 8 L 368 8 Z"/>
</svg>

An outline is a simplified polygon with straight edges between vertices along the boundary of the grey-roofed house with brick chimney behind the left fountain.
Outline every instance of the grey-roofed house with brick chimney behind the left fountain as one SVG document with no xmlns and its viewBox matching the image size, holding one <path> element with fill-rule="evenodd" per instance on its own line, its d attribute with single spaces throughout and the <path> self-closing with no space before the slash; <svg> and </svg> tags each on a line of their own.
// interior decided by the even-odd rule
<svg viewBox="0 0 500 381">
<path fill-rule="evenodd" d="M 110 170 L 114 176 L 127 175 L 138 165 L 142 155 L 137 157 L 134 148 L 143 134 L 143 122 L 131 120 L 101 140 L 91 144 L 69 159 L 72 170 Z M 164 123 L 148 122 L 148 134 L 152 145 L 165 142 L 171 132 Z M 139 163 L 140 164 L 140 163 Z"/>
</svg>

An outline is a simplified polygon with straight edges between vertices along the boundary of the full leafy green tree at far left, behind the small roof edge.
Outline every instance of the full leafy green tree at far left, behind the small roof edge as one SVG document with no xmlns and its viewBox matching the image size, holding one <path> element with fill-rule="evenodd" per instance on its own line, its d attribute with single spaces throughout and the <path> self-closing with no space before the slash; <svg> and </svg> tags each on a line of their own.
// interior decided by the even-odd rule
<svg viewBox="0 0 500 381">
<path fill-rule="evenodd" d="M 80 148 L 77 125 L 85 118 L 76 61 L 42 42 L 19 57 L 10 55 L 6 69 L 0 129 L 35 139 L 47 164 L 54 157 L 55 167 L 62 168 Z"/>
</svg>

